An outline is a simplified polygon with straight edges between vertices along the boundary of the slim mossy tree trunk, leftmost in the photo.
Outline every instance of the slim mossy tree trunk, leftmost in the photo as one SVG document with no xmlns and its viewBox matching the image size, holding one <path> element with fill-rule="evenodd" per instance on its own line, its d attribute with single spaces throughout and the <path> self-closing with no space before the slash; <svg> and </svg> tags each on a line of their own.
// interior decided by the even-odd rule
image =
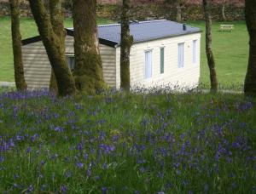
<svg viewBox="0 0 256 194">
<path fill-rule="evenodd" d="M 15 83 L 18 90 L 26 90 L 24 67 L 22 62 L 21 36 L 20 36 L 20 0 L 9 0 L 11 12 L 11 29 L 13 40 L 13 53 L 15 65 Z"/>
</svg>

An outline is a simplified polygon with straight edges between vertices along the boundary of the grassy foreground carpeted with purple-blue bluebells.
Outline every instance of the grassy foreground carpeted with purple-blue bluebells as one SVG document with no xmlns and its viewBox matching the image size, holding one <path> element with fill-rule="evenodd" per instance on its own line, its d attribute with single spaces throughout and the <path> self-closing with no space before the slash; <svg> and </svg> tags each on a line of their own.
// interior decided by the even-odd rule
<svg viewBox="0 0 256 194">
<path fill-rule="evenodd" d="M 0 94 L 0 193 L 255 193 L 255 100 Z"/>
</svg>

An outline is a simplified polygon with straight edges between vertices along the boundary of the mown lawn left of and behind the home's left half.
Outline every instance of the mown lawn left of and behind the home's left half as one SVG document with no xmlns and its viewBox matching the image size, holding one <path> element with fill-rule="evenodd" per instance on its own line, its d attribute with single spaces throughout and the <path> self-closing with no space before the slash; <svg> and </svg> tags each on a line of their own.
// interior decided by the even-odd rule
<svg viewBox="0 0 256 194">
<path fill-rule="evenodd" d="M 0 16 L 0 82 L 14 82 L 14 65 L 11 44 L 11 23 L 9 17 Z M 108 24 L 111 21 L 97 19 L 98 24 Z M 65 27 L 73 27 L 73 20 L 65 20 Z M 20 31 L 22 39 L 38 36 L 38 29 L 34 20 L 21 18 Z"/>
</svg>

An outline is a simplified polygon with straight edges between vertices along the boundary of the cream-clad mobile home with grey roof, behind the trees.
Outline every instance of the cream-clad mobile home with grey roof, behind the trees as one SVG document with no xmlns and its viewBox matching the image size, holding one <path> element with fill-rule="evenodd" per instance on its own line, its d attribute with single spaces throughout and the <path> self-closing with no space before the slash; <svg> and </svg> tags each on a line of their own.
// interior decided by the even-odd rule
<svg viewBox="0 0 256 194">
<path fill-rule="evenodd" d="M 131 87 L 179 85 L 195 87 L 200 78 L 201 30 L 169 20 L 132 22 Z M 103 76 L 109 87 L 120 86 L 120 25 L 98 26 Z M 22 41 L 28 88 L 49 88 L 51 67 L 41 38 Z M 67 29 L 68 66 L 74 66 L 73 29 Z"/>
</svg>

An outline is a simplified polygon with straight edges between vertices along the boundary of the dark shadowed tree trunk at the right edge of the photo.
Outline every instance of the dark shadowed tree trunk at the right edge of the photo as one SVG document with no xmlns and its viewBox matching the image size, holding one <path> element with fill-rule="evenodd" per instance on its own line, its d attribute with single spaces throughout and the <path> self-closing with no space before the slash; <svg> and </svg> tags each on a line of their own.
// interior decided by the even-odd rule
<svg viewBox="0 0 256 194">
<path fill-rule="evenodd" d="M 256 96 L 256 1 L 245 1 L 245 16 L 247 30 L 250 37 L 249 60 L 244 92 L 246 95 Z"/>
</svg>

